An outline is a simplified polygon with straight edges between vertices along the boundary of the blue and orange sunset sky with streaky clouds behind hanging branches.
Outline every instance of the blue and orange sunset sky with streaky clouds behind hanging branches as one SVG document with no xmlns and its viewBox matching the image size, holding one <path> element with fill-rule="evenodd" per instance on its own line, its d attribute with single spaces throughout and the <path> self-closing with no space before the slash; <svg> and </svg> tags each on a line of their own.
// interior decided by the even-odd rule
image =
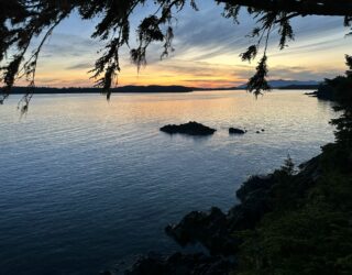
<svg viewBox="0 0 352 275">
<path fill-rule="evenodd" d="M 160 44 L 147 50 L 147 66 L 140 73 L 130 62 L 129 48 L 121 51 L 119 85 L 184 85 L 190 87 L 233 87 L 246 82 L 257 61 L 242 62 L 240 53 L 251 44 L 246 36 L 255 21 L 241 12 L 240 24 L 221 15 L 222 6 L 198 1 L 199 11 L 186 7 L 176 14 L 175 52 L 161 61 Z M 140 8 L 132 15 L 131 45 L 134 30 L 143 15 L 153 12 L 153 4 Z M 103 42 L 90 38 L 98 19 L 81 21 L 73 13 L 57 26 L 45 44 L 37 65 L 36 86 L 90 87 L 88 73 L 99 57 Z M 342 18 L 307 16 L 293 20 L 295 41 L 279 51 L 278 38 L 272 35 L 268 47 L 271 79 L 322 80 L 345 70 L 344 55 L 351 54 L 352 36 Z M 34 45 L 35 46 L 35 43 Z"/>
</svg>

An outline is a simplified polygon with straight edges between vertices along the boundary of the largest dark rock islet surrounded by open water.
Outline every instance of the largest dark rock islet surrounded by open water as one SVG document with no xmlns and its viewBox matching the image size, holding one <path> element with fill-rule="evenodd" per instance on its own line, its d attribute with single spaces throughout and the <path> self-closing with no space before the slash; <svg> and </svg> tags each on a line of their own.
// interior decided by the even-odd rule
<svg viewBox="0 0 352 275">
<path fill-rule="evenodd" d="M 169 124 L 161 128 L 160 130 L 168 134 L 180 133 L 189 135 L 211 135 L 217 131 L 216 129 L 211 129 L 195 121 L 189 121 L 188 123 L 179 125 Z"/>
</svg>

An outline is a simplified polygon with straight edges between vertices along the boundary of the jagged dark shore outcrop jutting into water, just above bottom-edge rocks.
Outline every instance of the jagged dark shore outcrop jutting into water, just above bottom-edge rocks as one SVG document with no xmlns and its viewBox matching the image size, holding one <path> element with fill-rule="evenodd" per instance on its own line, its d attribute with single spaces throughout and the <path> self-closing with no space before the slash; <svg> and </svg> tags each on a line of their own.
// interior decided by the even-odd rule
<svg viewBox="0 0 352 275">
<path fill-rule="evenodd" d="M 216 207 L 209 212 L 193 211 L 165 231 L 183 246 L 199 242 L 211 254 L 234 254 L 241 240 L 233 237 L 233 231 L 252 229 L 270 211 L 268 190 L 274 183 L 273 176 L 251 177 L 237 193 L 241 204 L 228 213 Z"/>
</svg>

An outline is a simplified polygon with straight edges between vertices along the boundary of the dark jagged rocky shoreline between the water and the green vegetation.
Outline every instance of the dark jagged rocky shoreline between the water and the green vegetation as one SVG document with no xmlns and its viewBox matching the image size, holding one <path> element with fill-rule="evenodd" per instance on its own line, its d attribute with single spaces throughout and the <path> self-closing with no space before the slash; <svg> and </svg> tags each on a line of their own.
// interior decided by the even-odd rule
<svg viewBox="0 0 352 275">
<path fill-rule="evenodd" d="M 165 233 L 182 246 L 200 243 L 209 254 L 169 255 L 151 253 L 140 257 L 125 275 L 228 275 L 237 268 L 237 253 L 243 239 L 237 232 L 253 230 L 261 219 L 273 210 L 273 193 L 283 178 L 296 183 L 296 191 L 304 194 L 319 178 L 320 156 L 300 165 L 293 175 L 292 167 L 284 166 L 266 176 L 252 176 L 237 191 L 239 205 L 227 213 L 217 207 L 209 211 L 191 211 L 178 223 L 168 224 Z M 116 274 L 113 272 L 101 273 Z M 235 274 L 235 273 L 233 273 Z"/>
</svg>

